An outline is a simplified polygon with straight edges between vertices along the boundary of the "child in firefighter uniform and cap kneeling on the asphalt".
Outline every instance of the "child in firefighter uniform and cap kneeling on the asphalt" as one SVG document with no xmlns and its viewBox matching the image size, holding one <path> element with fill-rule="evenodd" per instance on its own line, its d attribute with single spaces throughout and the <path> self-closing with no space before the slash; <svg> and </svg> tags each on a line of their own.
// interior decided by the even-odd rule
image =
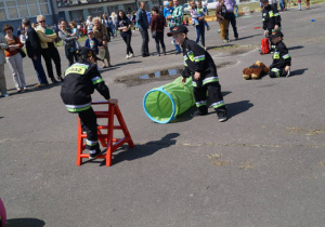
<svg viewBox="0 0 325 227">
<path fill-rule="evenodd" d="M 280 30 L 273 31 L 271 35 L 272 42 L 275 44 L 273 53 L 273 63 L 270 66 L 269 76 L 271 78 L 276 77 L 289 77 L 291 56 L 283 40 L 283 34 Z"/>
</svg>

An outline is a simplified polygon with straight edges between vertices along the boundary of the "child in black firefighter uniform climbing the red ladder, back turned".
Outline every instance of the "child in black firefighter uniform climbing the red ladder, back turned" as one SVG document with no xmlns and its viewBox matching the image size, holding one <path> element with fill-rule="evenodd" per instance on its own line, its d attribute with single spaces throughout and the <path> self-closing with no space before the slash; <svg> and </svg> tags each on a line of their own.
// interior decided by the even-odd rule
<svg viewBox="0 0 325 227">
<path fill-rule="evenodd" d="M 67 110 L 78 114 L 81 128 L 87 132 L 86 149 L 89 149 L 90 159 L 101 153 L 98 142 L 96 116 L 91 107 L 91 94 L 94 89 L 108 99 L 109 104 L 117 104 L 117 99 L 110 99 L 109 90 L 106 86 L 98 66 L 96 53 L 90 48 L 81 48 L 81 59 L 66 69 L 64 82 L 61 89 L 61 97 Z"/>
</svg>

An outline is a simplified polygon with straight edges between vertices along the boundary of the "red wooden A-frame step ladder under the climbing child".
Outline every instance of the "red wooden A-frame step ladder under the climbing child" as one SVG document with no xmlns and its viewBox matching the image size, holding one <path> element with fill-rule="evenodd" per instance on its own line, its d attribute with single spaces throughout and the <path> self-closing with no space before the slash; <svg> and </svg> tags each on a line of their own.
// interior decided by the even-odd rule
<svg viewBox="0 0 325 227">
<path fill-rule="evenodd" d="M 108 104 L 107 101 L 103 102 L 92 102 L 92 105 L 103 105 Z M 129 144 L 130 148 L 134 147 L 131 135 L 128 131 L 127 124 L 123 120 L 123 117 L 118 108 L 118 105 L 108 104 L 107 111 L 94 111 L 95 116 L 99 118 L 108 119 L 107 125 L 99 125 L 98 126 L 98 135 L 99 142 L 103 147 L 107 147 L 106 155 L 99 155 L 96 159 L 106 159 L 106 166 L 110 166 L 112 164 L 112 153 L 125 143 Z M 114 125 L 114 116 L 116 116 L 119 125 Z M 107 131 L 107 134 L 103 134 L 101 130 Z M 122 138 L 113 138 L 113 130 L 122 130 L 125 137 Z M 78 141 L 77 141 L 77 165 L 80 165 L 82 159 L 89 159 L 89 153 L 82 153 L 86 149 L 86 143 L 83 139 L 87 138 L 87 134 L 82 133 L 80 119 L 78 120 Z M 113 144 L 115 143 L 115 144 Z"/>
</svg>

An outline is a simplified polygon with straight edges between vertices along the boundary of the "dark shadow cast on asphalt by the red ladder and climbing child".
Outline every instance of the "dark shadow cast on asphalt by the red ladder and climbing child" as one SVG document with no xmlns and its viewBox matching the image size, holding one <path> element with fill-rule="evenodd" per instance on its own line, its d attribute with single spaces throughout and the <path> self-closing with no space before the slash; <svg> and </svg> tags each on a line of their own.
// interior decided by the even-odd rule
<svg viewBox="0 0 325 227">
<path fill-rule="evenodd" d="M 122 161 L 132 161 L 135 159 L 141 159 L 154 155 L 160 149 L 176 145 L 177 139 L 174 138 L 179 135 L 179 133 L 169 133 L 159 141 L 152 141 L 146 144 L 135 145 L 135 147 L 132 149 L 129 149 L 128 146 L 123 146 L 123 149 L 126 149 L 125 151 L 113 155 L 113 165 Z M 105 161 L 101 165 L 105 165 Z"/>
</svg>

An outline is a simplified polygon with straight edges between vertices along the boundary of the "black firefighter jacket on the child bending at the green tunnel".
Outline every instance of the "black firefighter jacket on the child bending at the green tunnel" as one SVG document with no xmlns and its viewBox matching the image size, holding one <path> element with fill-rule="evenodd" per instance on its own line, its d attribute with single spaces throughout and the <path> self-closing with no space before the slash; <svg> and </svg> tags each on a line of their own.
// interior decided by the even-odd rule
<svg viewBox="0 0 325 227">
<path fill-rule="evenodd" d="M 185 69 L 184 78 L 192 76 L 193 86 L 203 86 L 207 83 L 219 82 L 217 68 L 211 55 L 199 44 L 187 38 L 182 44 Z M 200 72 L 198 80 L 194 79 L 195 71 Z"/>
</svg>

